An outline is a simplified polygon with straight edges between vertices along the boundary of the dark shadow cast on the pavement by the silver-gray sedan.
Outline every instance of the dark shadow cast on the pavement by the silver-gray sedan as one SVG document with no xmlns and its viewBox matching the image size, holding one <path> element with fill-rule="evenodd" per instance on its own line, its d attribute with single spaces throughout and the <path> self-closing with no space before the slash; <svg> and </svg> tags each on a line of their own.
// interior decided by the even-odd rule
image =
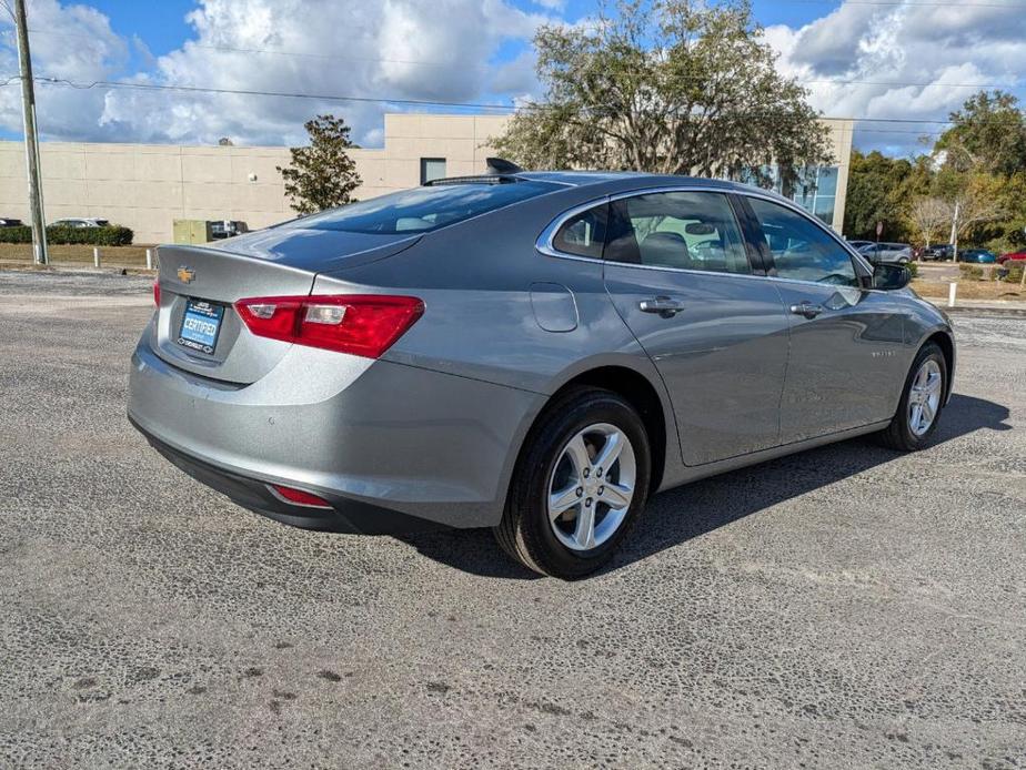
<svg viewBox="0 0 1026 770">
<path fill-rule="evenodd" d="M 1008 408 L 955 394 L 944 412 L 934 445 L 976 430 L 1010 430 Z M 862 437 L 767 460 L 655 495 L 613 561 L 600 574 L 645 559 L 661 550 L 723 527 L 798 495 L 888 463 L 899 453 Z M 541 576 L 506 557 L 487 529 L 404 535 L 422 556 L 484 577 L 535 579 Z"/>
</svg>

